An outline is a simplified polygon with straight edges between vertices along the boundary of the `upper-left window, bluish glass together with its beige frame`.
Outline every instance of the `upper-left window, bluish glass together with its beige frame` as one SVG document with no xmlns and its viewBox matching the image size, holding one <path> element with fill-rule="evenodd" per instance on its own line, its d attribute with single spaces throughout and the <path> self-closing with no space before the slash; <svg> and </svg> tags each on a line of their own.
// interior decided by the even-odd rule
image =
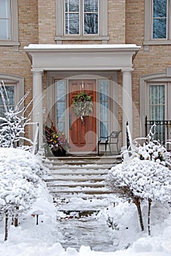
<svg viewBox="0 0 171 256">
<path fill-rule="evenodd" d="M 17 0 L 0 0 L 0 45 L 20 45 Z"/>
</svg>

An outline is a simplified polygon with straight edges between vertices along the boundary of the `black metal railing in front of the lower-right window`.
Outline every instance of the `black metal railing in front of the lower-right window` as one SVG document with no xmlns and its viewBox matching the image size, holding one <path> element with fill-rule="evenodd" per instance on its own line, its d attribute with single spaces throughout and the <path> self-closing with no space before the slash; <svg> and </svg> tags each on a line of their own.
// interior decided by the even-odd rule
<svg viewBox="0 0 171 256">
<path fill-rule="evenodd" d="M 153 125 L 155 126 L 153 127 Z M 148 120 L 145 117 L 145 136 L 148 135 L 150 129 L 153 127 L 153 140 L 159 140 L 161 144 L 171 140 L 171 120 Z"/>
</svg>

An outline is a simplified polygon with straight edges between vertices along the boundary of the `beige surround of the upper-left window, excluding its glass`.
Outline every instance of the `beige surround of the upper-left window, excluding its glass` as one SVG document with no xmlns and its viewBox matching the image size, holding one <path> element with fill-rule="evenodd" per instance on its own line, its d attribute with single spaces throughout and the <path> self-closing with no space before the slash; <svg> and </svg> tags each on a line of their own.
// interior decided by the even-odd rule
<svg viewBox="0 0 171 256">
<path fill-rule="evenodd" d="M 0 46 L 14 46 L 18 50 L 18 0 L 9 0 L 9 4 L 10 39 L 0 39 Z"/>
</svg>

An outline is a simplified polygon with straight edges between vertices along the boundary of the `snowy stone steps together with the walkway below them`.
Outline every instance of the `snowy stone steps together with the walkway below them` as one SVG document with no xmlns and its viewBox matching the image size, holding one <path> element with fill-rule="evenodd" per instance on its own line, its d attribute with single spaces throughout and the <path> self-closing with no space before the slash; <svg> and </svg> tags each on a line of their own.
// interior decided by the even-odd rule
<svg viewBox="0 0 171 256">
<path fill-rule="evenodd" d="M 80 165 L 79 161 L 77 165 L 58 165 L 53 159 L 52 176 L 46 178 L 46 183 L 58 211 L 58 231 L 61 233 L 58 242 L 65 249 L 79 250 L 83 245 L 95 251 L 115 251 L 112 228 L 104 218 L 97 218 L 100 210 L 115 203 L 113 193 L 104 187 L 110 165 L 104 162 Z"/>
</svg>

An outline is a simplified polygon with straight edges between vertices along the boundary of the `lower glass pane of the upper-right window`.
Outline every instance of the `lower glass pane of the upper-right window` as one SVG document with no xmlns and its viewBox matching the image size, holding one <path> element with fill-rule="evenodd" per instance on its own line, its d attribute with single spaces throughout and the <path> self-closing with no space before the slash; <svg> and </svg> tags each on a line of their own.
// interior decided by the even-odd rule
<svg viewBox="0 0 171 256">
<path fill-rule="evenodd" d="M 153 39 L 161 39 L 167 37 L 167 20 L 154 19 L 153 20 Z"/>
</svg>

